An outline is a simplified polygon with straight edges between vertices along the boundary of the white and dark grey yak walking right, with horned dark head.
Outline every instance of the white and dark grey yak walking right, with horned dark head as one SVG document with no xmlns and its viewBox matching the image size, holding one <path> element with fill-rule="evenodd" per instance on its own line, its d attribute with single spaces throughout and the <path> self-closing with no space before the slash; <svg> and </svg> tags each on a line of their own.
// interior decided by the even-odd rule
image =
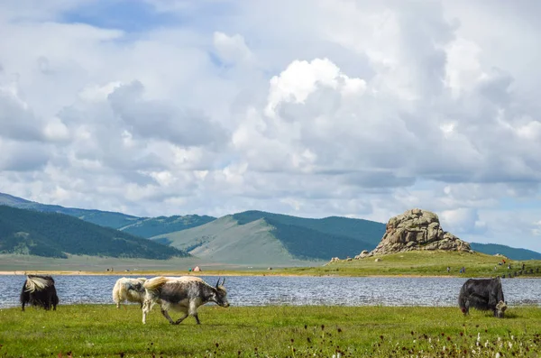
<svg viewBox="0 0 541 358">
<path fill-rule="evenodd" d="M 144 282 L 146 296 L 142 305 L 142 323 L 146 323 L 146 315 L 151 311 L 155 303 L 160 303 L 161 314 L 166 317 L 171 325 L 179 325 L 188 315 L 196 318 L 197 325 L 200 325 L 197 317 L 197 308 L 207 302 L 215 302 L 218 306 L 229 307 L 227 292 L 224 281 L 220 285 L 220 279 L 216 286 L 210 286 L 204 280 L 193 276 L 184 277 L 155 277 Z M 168 310 L 173 309 L 184 313 L 176 321 L 173 321 Z"/>
</svg>

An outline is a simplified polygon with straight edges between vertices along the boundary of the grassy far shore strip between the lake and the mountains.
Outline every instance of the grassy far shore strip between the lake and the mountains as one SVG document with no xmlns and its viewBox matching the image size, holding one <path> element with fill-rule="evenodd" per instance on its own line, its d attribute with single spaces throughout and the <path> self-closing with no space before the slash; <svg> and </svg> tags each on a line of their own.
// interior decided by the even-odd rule
<svg viewBox="0 0 541 358">
<path fill-rule="evenodd" d="M 400 252 L 362 260 L 327 263 L 312 262 L 312 266 L 298 267 L 252 267 L 243 265 L 225 265 L 216 262 L 200 262 L 197 259 L 136 260 L 76 256 L 69 259 L 36 258 L 23 255 L 2 255 L 0 271 L 17 271 L 17 273 L 50 272 L 52 274 L 110 274 L 107 268 L 115 267 L 114 274 L 156 276 L 156 275 L 185 275 L 188 268 L 200 266 L 203 271 L 197 275 L 305 275 L 305 276 L 454 276 L 454 277 L 494 277 L 517 272 L 517 277 L 541 277 L 541 261 L 529 260 L 524 262 L 506 260 L 499 265 L 500 257 L 484 253 L 464 252 Z M 305 262 L 307 265 L 310 262 Z M 511 264 L 511 270 L 508 264 Z M 522 264 L 534 273 L 519 274 Z M 450 271 L 447 272 L 447 267 Z M 460 273 L 460 268 L 465 273 Z M 130 270 L 127 272 L 126 270 Z M 80 272 L 79 272 L 80 271 Z"/>
</svg>

